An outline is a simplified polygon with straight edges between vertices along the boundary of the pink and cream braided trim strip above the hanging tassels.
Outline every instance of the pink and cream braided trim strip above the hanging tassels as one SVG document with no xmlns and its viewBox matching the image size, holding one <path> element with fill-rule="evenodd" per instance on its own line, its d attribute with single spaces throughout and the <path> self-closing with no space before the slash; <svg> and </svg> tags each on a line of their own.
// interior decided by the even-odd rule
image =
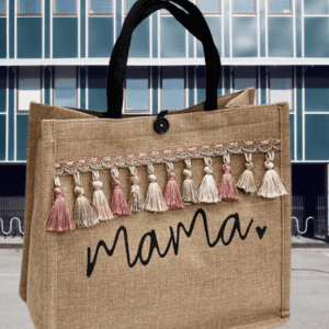
<svg viewBox="0 0 329 329">
<path fill-rule="evenodd" d="M 147 166 L 147 163 L 175 162 L 185 159 L 224 156 L 226 154 L 269 152 L 272 150 L 279 151 L 280 149 L 280 139 L 276 138 L 223 141 L 219 144 L 181 147 L 170 150 L 156 150 L 134 155 L 106 155 L 59 161 L 55 164 L 55 174 L 65 175 L 73 174 L 76 172 L 89 172 L 92 170 Z"/>
</svg>

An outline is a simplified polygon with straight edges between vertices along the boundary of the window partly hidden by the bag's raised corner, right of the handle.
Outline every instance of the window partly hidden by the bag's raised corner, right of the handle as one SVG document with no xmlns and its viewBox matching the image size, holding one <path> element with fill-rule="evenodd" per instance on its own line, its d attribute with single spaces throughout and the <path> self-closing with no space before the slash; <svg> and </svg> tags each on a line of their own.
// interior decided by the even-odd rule
<svg viewBox="0 0 329 329">
<path fill-rule="evenodd" d="M 238 66 L 234 68 L 234 91 L 240 91 L 247 88 L 256 88 L 254 104 L 257 101 L 257 67 Z"/>
</svg>

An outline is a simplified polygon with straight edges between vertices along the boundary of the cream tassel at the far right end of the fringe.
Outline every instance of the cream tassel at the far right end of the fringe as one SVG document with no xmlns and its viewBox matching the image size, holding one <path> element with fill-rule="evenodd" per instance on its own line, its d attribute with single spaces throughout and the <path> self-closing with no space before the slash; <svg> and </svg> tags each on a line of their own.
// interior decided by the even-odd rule
<svg viewBox="0 0 329 329">
<path fill-rule="evenodd" d="M 266 154 L 266 161 L 264 162 L 266 172 L 257 192 L 258 196 L 273 198 L 273 197 L 279 197 L 288 194 L 286 186 L 281 181 L 277 172 L 273 169 L 274 168 L 274 163 L 272 162 L 273 160 L 274 160 L 274 151 L 272 150 Z"/>
</svg>

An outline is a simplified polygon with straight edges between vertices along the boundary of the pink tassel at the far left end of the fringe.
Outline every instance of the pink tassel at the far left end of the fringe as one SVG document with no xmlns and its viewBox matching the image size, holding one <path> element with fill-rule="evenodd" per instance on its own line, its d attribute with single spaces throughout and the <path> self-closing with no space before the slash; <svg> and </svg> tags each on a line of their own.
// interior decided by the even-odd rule
<svg viewBox="0 0 329 329">
<path fill-rule="evenodd" d="M 68 206 L 64 200 L 64 192 L 60 188 L 59 177 L 55 177 L 55 202 L 48 215 L 47 229 L 50 231 L 69 231 L 75 228 Z"/>
</svg>

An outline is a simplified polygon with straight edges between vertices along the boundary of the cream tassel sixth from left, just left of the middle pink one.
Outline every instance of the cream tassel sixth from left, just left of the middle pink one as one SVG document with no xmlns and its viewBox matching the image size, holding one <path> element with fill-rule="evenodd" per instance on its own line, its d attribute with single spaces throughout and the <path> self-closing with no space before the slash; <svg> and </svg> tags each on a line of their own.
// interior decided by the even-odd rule
<svg viewBox="0 0 329 329">
<path fill-rule="evenodd" d="M 151 163 L 148 163 L 147 170 L 149 173 L 149 185 L 145 198 L 145 209 L 154 213 L 167 212 L 168 206 L 164 202 L 161 189 L 157 182 L 154 166 Z"/>
</svg>

